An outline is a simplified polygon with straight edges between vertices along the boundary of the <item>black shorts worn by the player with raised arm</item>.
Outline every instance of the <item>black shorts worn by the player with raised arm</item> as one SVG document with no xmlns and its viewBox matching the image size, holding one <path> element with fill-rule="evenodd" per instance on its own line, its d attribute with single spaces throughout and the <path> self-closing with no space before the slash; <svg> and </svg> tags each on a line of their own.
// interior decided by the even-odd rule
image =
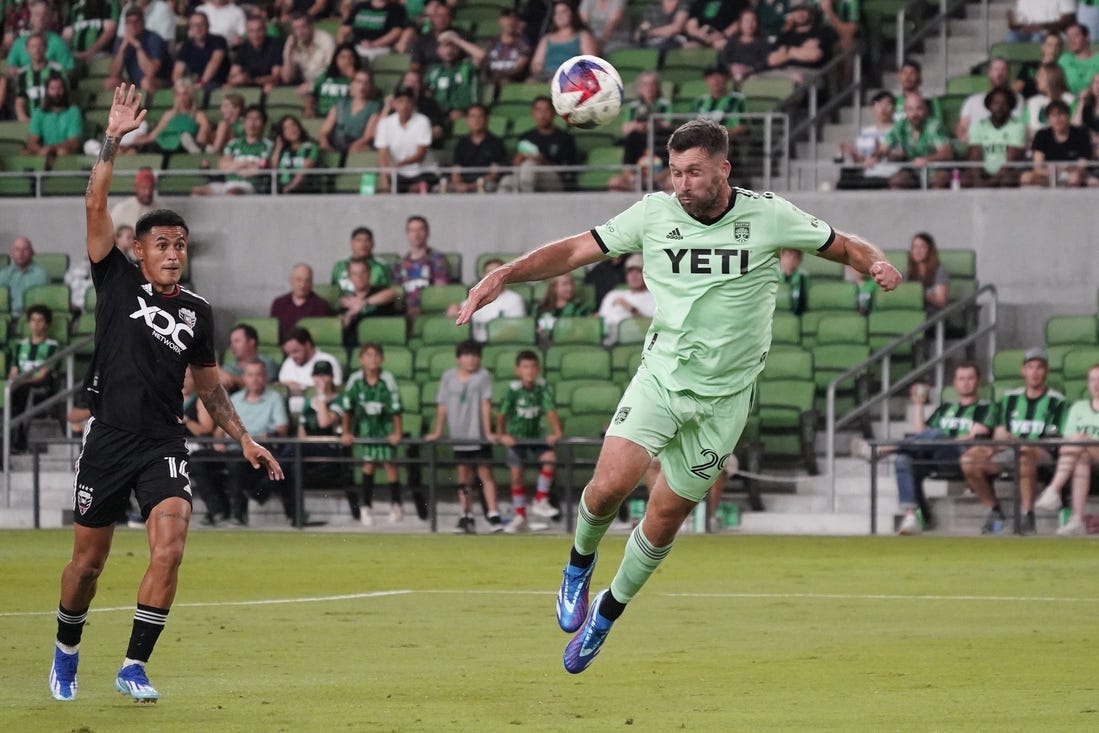
<svg viewBox="0 0 1099 733">
<path fill-rule="evenodd" d="M 142 519 L 165 499 L 191 502 L 184 436 L 142 437 L 88 421 L 73 485 L 73 521 L 81 526 L 109 526 L 137 497 Z"/>
</svg>

